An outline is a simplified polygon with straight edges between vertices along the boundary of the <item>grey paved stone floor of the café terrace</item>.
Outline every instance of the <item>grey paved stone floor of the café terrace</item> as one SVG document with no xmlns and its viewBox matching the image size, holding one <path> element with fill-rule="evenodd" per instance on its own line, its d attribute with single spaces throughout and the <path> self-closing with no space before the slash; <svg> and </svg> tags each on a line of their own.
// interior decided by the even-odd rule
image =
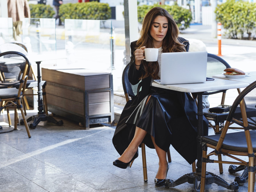
<svg viewBox="0 0 256 192">
<path fill-rule="evenodd" d="M 28 111 L 28 116 L 35 113 Z M 35 112 L 35 111 L 34 111 Z M 13 114 L 12 115 L 12 120 Z M 21 115 L 19 114 L 20 118 Z M 61 117 L 56 117 L 61 119 Z M 63 118 L 62 118 L 63 119 Z M 119 169 L 112 162 L 119 156 L 112 145 L 115 127 L 94 125 L 83 130 L 76 122 L 63 119 L 63 126 L 48 123 L 30 130 L 0 134 L 0 191 L 1 192 L 155 192 L 192 190 L 191 184 L 175 188 L 155 187 L 154 178 L 158 158 L 154 149 L 146 148 L 148 182 L 143 181 L 141 155 L 131 168 Z M 1 114 L 1 124 L 7 125 L 6 112 Z M 13 123 L 13 122 L 12 122 Z M 210 129 L 210 134 L 213 131 Z M 171 146 L 172 162 L 167 178 L 178 179 L 192 172 L 189 165 Z M 186 149 L 184 149 L 186 150 Z M 141 150 L 139 150 L 141 154 Z M 223 157 L 223 159 L 226 159 Z M 246 158 L 245 158 L 246 159 Z M 230 183 L 237 174 L 228 173 L 224 165 L 221 177 Z M 218 164 L 209 164 L 207 170 L 217 175 Z M 241 172 L 240 172 L 241 174 Z M 247 183 L 239 187 L 247 191 Z M 231 191 L 216 184 L 206 186 L 208 192 Z"/>
</svg>

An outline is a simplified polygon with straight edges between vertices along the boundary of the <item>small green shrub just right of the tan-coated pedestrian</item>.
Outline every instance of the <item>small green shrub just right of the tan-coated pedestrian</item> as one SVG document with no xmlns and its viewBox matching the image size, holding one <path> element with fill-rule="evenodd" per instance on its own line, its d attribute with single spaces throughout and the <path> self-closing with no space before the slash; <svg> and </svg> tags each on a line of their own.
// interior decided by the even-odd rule
<svg viewBox="0 0 256 192">
<path fill-rule="evenodd" d="M 29 4 L 31 18 L 52 18 L 55 14 L 50 5 Z"/>
</svg>

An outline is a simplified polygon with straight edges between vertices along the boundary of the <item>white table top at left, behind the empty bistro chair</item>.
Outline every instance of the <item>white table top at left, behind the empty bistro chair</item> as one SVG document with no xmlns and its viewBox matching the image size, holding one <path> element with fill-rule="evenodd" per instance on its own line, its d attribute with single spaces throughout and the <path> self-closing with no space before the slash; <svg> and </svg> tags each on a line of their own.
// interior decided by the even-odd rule
<svg viewBox="0 0 256 192">
<path fill-rule="evenodd" d="M 20 59 L 25 60 L 22 56 L 20 57 L 11 57 L 12 59 Z M 50 55 L 50 54 L 42 54 L 42 55 L 28 55 L 28 60 L 30 62 L 42 62 L 47 60 L 58 60 L 58 59 L 66 59 L 66 55 Z"/>
</svg>

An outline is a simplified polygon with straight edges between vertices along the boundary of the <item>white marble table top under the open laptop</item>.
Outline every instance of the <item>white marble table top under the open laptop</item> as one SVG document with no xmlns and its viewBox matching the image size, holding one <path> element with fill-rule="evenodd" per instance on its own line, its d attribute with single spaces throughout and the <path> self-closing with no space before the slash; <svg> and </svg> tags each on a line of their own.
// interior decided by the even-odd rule
<svg viewBox="0 0 256 192">
<path fill-rule="evenodd" d="M 205 92 L 205 91 L 217 91 L 224 89 L 238 89 L 247 87 L 249 83 L 229 81 L 224 79 L 216 78 L 214 81 L 206 81 L 205 83 L 191 83 L 191 84 L 171 84 L 171 85 L 161 85 L 156 82 L 152 83 L 154 87 L 160 87 L 164 89 L 170 89 L 180 92 Z"/>
</svg>

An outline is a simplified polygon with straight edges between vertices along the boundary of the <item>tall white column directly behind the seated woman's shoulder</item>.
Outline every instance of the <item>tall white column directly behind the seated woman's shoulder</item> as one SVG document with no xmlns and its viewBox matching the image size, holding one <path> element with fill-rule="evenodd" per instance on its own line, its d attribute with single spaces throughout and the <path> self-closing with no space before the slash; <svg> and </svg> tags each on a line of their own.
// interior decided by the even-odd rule
<svg viewBox="0 0 256 192">
<path fill-rule="evenodd" d="M 138 9 L 137 0 L 124 0 L 124 32 L 126 64 L 130 62 L 130 44 L 138 40 Z"/>
</svg>

